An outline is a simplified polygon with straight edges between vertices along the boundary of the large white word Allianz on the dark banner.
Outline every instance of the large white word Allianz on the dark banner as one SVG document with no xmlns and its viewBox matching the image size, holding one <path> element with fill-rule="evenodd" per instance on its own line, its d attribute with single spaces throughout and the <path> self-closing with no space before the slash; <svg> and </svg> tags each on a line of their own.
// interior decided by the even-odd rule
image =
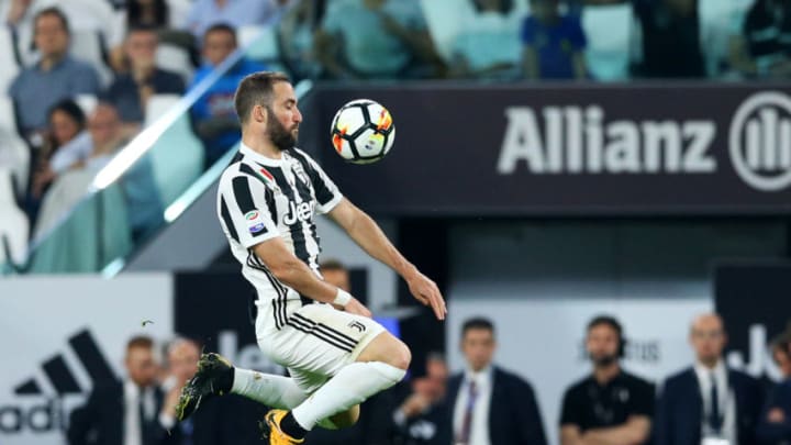
<svg viewBox="0 0 791 445">
<path fill-rule="evenodd" d="M 604 109 L 505 109 L 508 127 L 497 170 L 513 174 L 520 162 L 532 174 L 711 174 L 713 121 L 617 120 Z M 539 116 L 543 125 L 539 125 Z"/>
</svg>

